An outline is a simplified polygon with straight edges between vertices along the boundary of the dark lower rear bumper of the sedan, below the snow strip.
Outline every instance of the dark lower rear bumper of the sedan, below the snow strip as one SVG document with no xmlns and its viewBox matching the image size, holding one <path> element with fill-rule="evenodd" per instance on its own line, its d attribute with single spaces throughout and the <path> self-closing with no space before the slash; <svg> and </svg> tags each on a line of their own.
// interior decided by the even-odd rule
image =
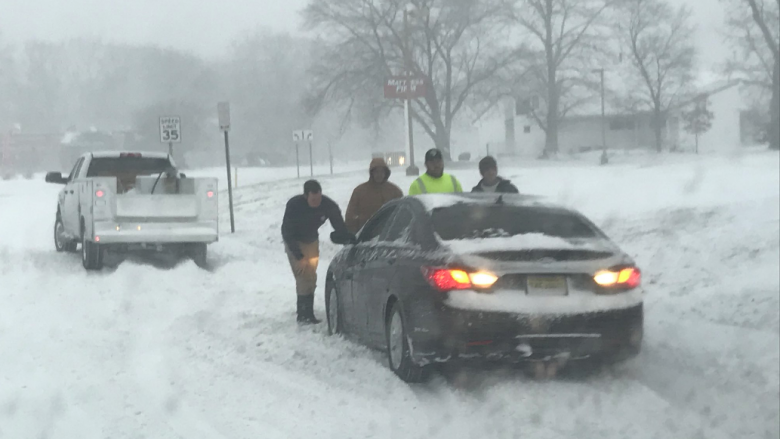
<svg viewBox="0 0 780 439">
<path fill-rule="evenodd" d="M 636 356 L 643 338 L 642 305 L 571 315 L 465 311 L 449 307 L 410 328 L 412 359 L 425 365 L 454 360 L 539 361 Z"/>
</svg>

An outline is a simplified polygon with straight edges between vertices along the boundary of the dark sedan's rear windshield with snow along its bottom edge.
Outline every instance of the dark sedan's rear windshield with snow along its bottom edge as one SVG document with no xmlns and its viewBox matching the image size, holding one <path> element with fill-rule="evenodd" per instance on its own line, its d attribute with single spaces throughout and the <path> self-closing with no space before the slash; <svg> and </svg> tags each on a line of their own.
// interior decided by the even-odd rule
<svg viewBox="0 0 780 439">
<path fill-rule="evenodd" d="M 541 233 L 559 238 L 593 238 L 598 234 L 570 213 L 522 206 L 457 204 L 434 209 L 433 228 L 445 241 L 503 238 Z"/>
</svg>

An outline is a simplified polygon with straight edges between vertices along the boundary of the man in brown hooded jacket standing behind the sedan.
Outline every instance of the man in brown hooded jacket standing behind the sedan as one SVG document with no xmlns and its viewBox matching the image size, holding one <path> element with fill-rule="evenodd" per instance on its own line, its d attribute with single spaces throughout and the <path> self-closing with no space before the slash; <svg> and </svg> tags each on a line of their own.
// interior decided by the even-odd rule
<svg viewBox="0 0 780 439">
<path fill-rule="evenodd" d="M 357 233 L 385 203 L 404 196 L 398 186 L 387 181 L 390 178 L 390 168 L 383 159 L 371 160 L 368 173 L 368 181 L 352 191 L 352 198 L 347 205 L 345 222 L 347 230 L 352 233 Z"/>
</svg>

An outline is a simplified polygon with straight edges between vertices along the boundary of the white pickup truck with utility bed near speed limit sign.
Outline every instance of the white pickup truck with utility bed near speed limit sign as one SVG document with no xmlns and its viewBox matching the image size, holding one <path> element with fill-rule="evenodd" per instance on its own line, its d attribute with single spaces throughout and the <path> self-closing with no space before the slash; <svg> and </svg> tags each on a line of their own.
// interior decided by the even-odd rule
<svg viewBox="0 0 780 439">
<path fill-rule="evenodd" d="M 107 251 L 172 250 L 206 265 L 219 238 L 216 178 L 187 178 L 168 154 L 101 152 L 81 156 L 70 175 L 46 175 L 63 184 L 54 244 L 76 252 L 87 270 L 103 267 Z"/>
</svg>

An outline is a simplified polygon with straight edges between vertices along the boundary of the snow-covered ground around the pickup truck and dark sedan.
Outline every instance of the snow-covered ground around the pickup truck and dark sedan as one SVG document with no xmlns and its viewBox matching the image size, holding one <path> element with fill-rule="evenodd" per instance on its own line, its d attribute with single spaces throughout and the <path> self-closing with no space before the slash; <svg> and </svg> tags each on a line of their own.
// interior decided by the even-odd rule
<svg viewBox="0 0 780 439">
<path fill-rule="evenodd" d="M 595 163 L 500 173 L 580 209 L 637 260 L 641 355 L 590 377 L 469 371 L 419 386 L 324 324 L 295 324 L 280 237 L 295 168 L 239 170 L 235 234 L 224 169 L 189 172 L 223 178 L 211 271 L 128 260 L 86 273 L 54 251 L 60 187 L 0 181 L 0 438 L 777 438 L 778 154 Z M 321 177 L 342 209 L 368 162 L 344 167 Z M 336 251 L 322 245 L 321 276 Z"/>
</svg>

